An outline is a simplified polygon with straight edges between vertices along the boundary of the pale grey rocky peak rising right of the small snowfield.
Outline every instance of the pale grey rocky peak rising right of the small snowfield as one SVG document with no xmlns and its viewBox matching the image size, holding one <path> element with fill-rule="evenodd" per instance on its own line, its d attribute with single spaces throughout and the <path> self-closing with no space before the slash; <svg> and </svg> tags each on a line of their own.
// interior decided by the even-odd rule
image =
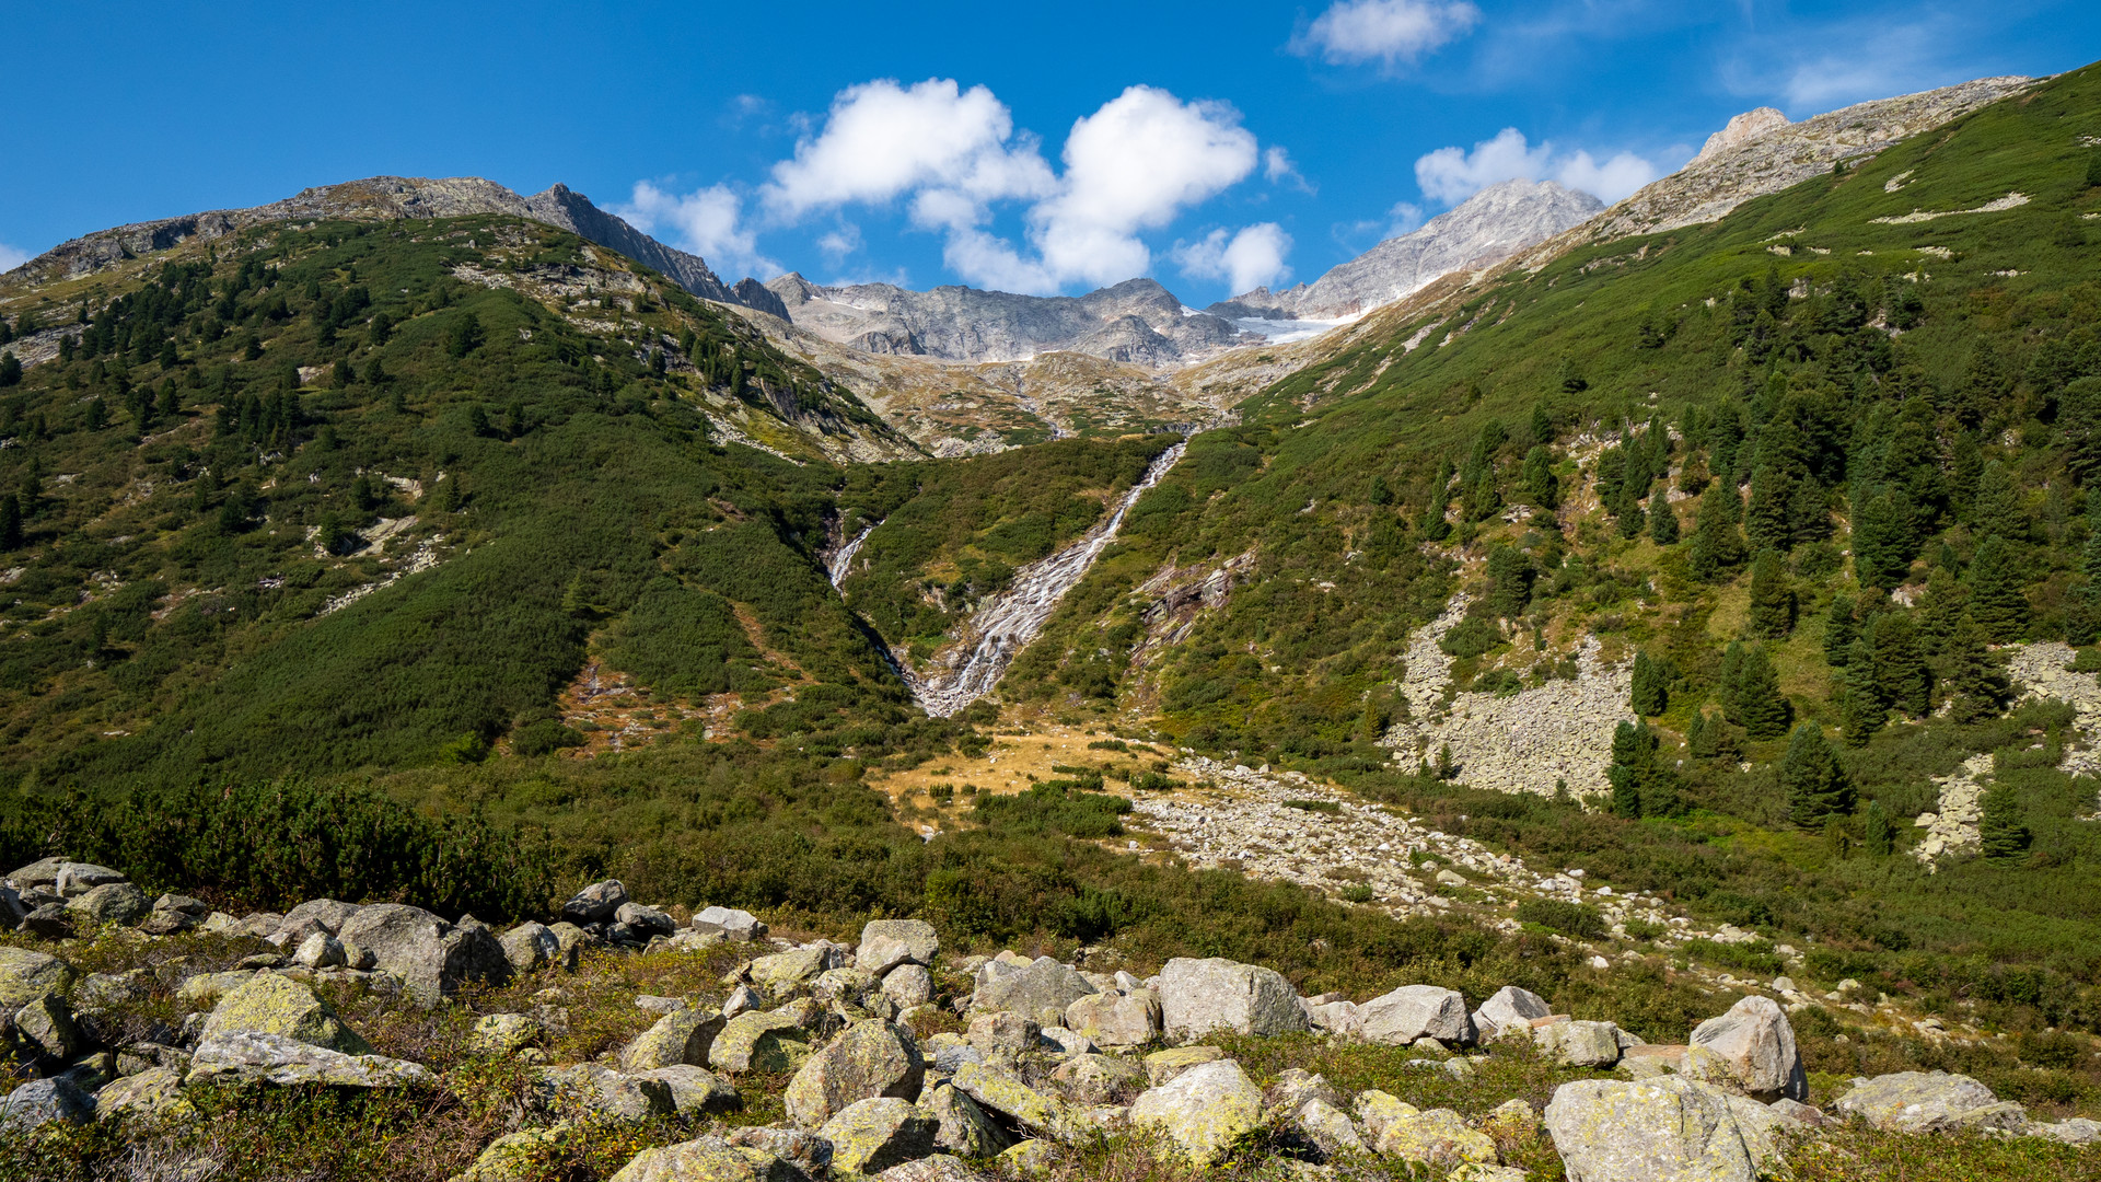
<svg viewBox="0 0 2101 1182">
<path fill-rule="evenodd" d="M 1502 181 L 1282 292 L 1254 288 L 1206 311 L 1258 320 L 1343 320 L 1414 294 L 1441 276 L 1506 259 L 1597 217 L 1605 202 L 1553 181 Z"/>
</svg>

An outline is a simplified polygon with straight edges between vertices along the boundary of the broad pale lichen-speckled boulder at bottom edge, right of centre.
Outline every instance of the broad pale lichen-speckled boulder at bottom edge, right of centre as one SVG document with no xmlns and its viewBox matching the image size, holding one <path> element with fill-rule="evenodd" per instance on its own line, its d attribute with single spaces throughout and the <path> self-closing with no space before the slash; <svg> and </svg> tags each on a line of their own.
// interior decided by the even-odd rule
<svg viewBox="0 0 2101 1182">
<path fill-rule="evenodd" d="M 1752 1182 L 1765 1159 L 1729 1100 L 1674 1075 L 1580 1079 L 1555 1089 L 1546 1134 L 1569 1182 Z"/>
</svg>

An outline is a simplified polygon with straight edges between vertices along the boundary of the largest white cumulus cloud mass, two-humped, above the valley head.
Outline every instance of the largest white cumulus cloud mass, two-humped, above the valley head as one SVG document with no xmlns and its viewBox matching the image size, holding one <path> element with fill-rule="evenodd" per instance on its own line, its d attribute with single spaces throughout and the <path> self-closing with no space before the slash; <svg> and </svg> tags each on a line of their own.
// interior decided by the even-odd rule
<svg viewBox="0 0 2101 1182">
<path fill-rule="evenodd" d="M 1061 164 L 1050 168 L 983 86 L 876 80 L 838 93 L 794 158 L 773 166 L 761 202 L 779 223 L 903 202 L 914 227 L 943 236 L 943 261 L 964 280 L 1055 292 L 1143 276 L 1141 231 L 1244 181 L 1263 154 L 1231 107 L 1130 86 L 1074 122 Z M 1296 177 L 1286 156 L 1269 168 Z M 1025 244 L 990 229 L 1000 202 L 1027 202 Z"/>
</svg>

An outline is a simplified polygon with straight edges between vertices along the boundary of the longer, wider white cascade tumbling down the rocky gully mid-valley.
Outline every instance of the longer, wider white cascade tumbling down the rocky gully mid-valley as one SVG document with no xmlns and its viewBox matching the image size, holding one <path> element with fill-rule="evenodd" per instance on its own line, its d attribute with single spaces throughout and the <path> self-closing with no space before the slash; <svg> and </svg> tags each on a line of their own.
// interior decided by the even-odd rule
<svg viewBox="0 0 2101 1182">
<path fill-rule="evenodd" d="M 1116 505 L 1116 513 L 1109 513 L 1107 522 L 1095 526 L 1080 541 L 1055 555 L 1023 566 L 1015 572 L 1015 583 L 1006 591 L 979 604 L 977 612 L 964 620 L 962 639 L 935 658 L 933 671 L 920 675 L 899 663 L 899 673 L 906 686 L 912 688 L 918 705 L 935 717 L 950 717 L 985 696 L 1006 673 L 1006 667 L 1015 663 L 1015 656 L 1042 633 L 1065 591 L 1072 591 L 1080 583 L 1086 570 L 1095 566 L 1095 559 L 1101 557 L 1101 551 L 1116 538 L 1116 532 L 1124 526 L 1124 513 L 1137 505 L 1147 488 L 1160 484 L 1160 477 L 1181 461 L 1187 446 L 1174 444 L 1160 452 L 1145 469 L 1145 475 Z M 853 545 L 859 545 L 859 538 Z M 843 553 L 851 553 L 851 549 Z"/>
</svg>

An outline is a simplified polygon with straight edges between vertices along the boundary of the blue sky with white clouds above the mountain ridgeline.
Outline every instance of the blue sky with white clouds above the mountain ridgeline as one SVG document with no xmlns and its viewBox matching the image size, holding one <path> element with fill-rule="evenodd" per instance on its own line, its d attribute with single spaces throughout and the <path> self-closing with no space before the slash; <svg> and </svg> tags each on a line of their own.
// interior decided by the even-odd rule
<svg viewBox="0 0 2101 1182">
<path fill-rule="evenodd" d="M 0 267 L 380 172 L 555 181 L 725 278 L 1189 303 L 1509 175 L 1611 200 L 1729 116 L 2101 57 L 2069 0 L 29 4 Z M 36 97 L 32 101 L 32 97 Z"/>
</svg>

